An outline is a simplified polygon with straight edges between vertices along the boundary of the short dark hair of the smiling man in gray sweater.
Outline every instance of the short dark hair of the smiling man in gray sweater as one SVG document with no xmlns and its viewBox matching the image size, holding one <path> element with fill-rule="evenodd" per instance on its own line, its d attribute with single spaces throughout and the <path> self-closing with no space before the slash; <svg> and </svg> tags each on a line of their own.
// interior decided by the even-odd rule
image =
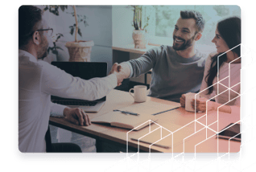
<svg viewBox="0 0 256 172">
<path fill-rule="evenodd" d="M 196 27 L 198 31 L 204 31 L 204 18 L 200 12 L 196 10 L 181 10 L 180 17 L 183 19 L 194 18 L 196 20 Z"/>
</svg>

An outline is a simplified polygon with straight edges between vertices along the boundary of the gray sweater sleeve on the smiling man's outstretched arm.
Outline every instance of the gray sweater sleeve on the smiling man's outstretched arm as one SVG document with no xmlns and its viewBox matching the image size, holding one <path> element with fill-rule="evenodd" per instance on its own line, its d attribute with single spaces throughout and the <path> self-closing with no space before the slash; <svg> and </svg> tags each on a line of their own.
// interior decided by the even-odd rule
<svg viewBox="0 0 256 172">
<path fill-rule="evenodd" d="M 154 68 L 156 58 L 159 55 L 160 47 L 151 48 L 138 59 L 131 59 L 125 62 L 130 67 L 130 77 L 137 77 L 147 73 L 151 68 Z"/>
</svg>

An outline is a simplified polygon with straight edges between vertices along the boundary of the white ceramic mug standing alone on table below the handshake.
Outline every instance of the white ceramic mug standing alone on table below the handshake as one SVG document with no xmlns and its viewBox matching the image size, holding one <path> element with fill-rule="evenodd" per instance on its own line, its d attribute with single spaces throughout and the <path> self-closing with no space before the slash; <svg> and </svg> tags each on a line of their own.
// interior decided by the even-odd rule
<svg viewBox="0 0 256 172">
<path fill-rule="evenodd" d="M 134 95 L 130 91 L 134 90 Z M 138 103 L 145 102 L 147 100 L 147 86 L 146 85 L 136 85 L 134 88 L 129 90 L 130 96 L 134 97 L 134 101 Z"/>
</svg>

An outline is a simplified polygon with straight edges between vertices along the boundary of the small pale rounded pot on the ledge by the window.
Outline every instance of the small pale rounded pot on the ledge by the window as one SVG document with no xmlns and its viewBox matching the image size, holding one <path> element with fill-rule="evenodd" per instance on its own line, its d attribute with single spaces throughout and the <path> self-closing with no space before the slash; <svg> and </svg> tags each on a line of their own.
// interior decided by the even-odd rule
<svg viewBox="0 0 256 172">
<path fill-rule="evenodd" d="M 134 48 L 145 49 L 148 43 L 148 36 L 146 31 L 134 30 L 133 31 Z"/>
</svg>

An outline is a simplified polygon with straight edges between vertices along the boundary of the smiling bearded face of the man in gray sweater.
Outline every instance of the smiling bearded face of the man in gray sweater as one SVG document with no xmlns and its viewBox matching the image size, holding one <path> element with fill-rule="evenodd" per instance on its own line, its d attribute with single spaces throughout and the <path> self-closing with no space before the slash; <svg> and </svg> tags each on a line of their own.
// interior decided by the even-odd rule
<svg viewBox="0 0 256 172">
<path fill-rule="evenodd" d="M 192 47 L 196 37 L 196 20 L 179 18 L 173 31 L 173 49 L 176 51 Z"/>
</svg>

